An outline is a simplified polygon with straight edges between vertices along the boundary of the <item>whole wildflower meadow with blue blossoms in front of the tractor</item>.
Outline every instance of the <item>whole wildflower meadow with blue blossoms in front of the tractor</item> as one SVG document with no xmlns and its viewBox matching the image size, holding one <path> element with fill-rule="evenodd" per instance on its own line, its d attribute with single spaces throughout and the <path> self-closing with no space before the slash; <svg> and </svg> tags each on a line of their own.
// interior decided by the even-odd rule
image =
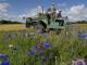
<svg viewBox="0 0 87 65">
<path fill-rule="evenodd" d="M 70 25 L 61 34 L 32 29 L 0 31 L 0 65 L 77 64 L 87 64 L 86 27 Z"/>
</svg>

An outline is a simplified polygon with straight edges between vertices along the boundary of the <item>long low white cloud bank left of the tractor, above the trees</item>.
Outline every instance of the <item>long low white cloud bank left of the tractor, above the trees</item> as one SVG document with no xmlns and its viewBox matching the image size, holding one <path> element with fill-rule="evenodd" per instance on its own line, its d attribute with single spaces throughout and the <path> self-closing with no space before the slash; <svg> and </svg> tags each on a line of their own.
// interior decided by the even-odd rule
<svg viewBox="0 0 87 65">
<path fill-rule="evenodd" d="M 0 20 L 18 21 L 18 22 L 25 23 L 25 20 L 23 20 L 23 16 L 30 17 L 30 16 L 37 15 L 37 13 L 42 12 L 42 9 L 40 5 L 38 5 L 35 9 L 30 9 L 30 11 L 27 11 L 27 9 L 25 9 L 25 12 L 27 14 L 22 14 L 22 15 L 17 15 L 17 16 L 0 12 L 0 15 L 1 15 Z M 10 13 L 13 13 L 13 12 L 10 12 Z M 44 13 L 45 13 L 45 10 L 44 10 Z"/>
</svg>

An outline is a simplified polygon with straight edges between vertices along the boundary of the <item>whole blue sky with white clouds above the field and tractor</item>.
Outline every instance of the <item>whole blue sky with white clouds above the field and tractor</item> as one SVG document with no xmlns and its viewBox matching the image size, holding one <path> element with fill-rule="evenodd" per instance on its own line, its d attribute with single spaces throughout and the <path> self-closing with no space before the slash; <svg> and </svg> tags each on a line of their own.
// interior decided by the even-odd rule
<svg viewBox="0 0 87 65">
<path fill-rule="evenodd" d="M 44 12 L 54 3 L 57 14 L 62 10 L 62 16 L 69 22 L 87 21 L 87 0 L 0 0 L 0 20 L 25 23 L 23 16 L 30 17 Z"/>
</svg>

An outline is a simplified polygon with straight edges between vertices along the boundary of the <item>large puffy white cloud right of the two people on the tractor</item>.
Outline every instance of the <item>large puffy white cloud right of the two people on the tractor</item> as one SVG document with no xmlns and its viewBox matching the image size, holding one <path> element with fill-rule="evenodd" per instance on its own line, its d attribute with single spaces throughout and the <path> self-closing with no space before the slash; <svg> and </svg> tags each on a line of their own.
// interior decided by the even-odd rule
<svg viewBox="0 0 87 65">
<path fill-rule="evenodd" d="M 71 22 L 87 21 L 87 8 L 84 8 L 84 4 L 74 5 L 62 11 L 62 15 L 69 16 Z"/>
</svg>

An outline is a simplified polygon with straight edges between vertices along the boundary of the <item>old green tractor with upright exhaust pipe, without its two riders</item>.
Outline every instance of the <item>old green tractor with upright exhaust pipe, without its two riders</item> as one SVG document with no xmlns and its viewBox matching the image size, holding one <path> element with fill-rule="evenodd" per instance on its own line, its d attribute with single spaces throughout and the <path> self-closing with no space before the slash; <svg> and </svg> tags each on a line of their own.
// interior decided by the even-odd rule
<svg viewBox="0 0 87 65">
<path fill-rule="evenodd" d="M 67 21 L 64 18 L 54 18 L 51 21 L 50 13 L 38 13 L 37 17 L 27 17 L 26 27 L 34 29 L 35 31 L 49 31 L 51 29 L 64 29 L 66 27 Z M 67 18 L 67 16 L 65 17 Z"/>
</svg>

